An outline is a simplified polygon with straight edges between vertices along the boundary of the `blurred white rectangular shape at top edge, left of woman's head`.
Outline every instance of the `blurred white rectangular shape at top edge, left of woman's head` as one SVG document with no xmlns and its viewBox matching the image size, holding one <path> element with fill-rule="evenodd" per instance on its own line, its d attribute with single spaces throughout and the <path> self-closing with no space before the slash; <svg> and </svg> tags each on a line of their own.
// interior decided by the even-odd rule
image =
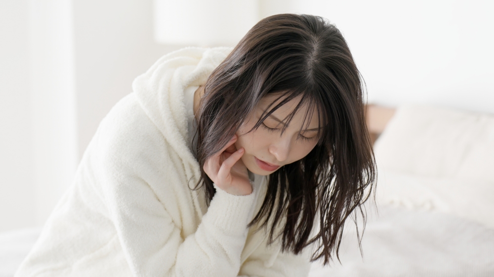
<svg viewBox="0 0 494 277">
<path fill-rule="evenodd" d="M 156 41 L 234 46 L 259 21 L 257 0 L 154 0 Z"/>
</svg>

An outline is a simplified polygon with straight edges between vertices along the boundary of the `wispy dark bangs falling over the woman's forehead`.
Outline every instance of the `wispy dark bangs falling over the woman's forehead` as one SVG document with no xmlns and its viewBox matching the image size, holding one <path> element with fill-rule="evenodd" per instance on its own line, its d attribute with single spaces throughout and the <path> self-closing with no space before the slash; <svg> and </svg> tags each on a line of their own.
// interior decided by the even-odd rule
<svg viewBox="0 0 494 277">
<path fill-rule="evenodd" d="M 256 124 L 252 129 L 249 131 L 254 131 L 257 128 L 259 128 L 264 120 L 266 120 L 273 112 L 275 112 L 277 109 L 282 107 L 283 105 L 287 104 L 288 102 L 301 97 L 300 102 L 295 106 L 295 108 L 285 117 L 285 118 L 280 118 L 285 125 L 283 126 L 281 130 L 281 135 L 286 131 L 288 128 L 288 125 L 290 124 L 291 120 L 294 118 L 294 116 L 301 110 L 305 111 L 305 114 L 303 116 L 303 121 L 302 125 L 300 127 L 300 132 L 303 130 L 307 130 L 310 128 L 310 123 L 312 122 L 312 119 L 314 117 L 314 111 L 315 115 L 317 116 L 318 119 L 318 130 L 317 130 L 317 136 L 319 137 L 318 144 L 322 143 L 322 141 L 325 140 L 327 134 L 327 129 L 329 128 L 328 125 L 328 110 L 326 108 L 326 105 L 323 103 L 323 99 L 321 97 L 321 92 L 318 91 L 309 91 L 307 89 L 301 90 L 301 89 L 293 89 L 293 90 L 285 90 L 283 92 L 270 92 L 265 95 L 266 96 L 271 96 L 271 95 L 277 95 L 277 97 L 266 107 L 264 111 L 262 111 L 261 116 L 257 120 Z"/>
</svg>

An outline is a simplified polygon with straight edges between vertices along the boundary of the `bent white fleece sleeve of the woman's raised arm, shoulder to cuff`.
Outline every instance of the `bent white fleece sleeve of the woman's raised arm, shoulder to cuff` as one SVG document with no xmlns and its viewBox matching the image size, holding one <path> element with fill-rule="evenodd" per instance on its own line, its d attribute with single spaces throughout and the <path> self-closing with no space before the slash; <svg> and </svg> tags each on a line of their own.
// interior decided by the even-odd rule
<svg viewBox="0 0 494 277">
<path fill-rule="evenodd" d="M 254 193 L 234 196 L 218 189 L 195 233 L 184 236 L 181 224 L 196 215 L 187 210 L 183 164 L 138 104 L 118 106 L 94 139 L 89 154 L 96 186 L 133 276 L 238 275 Z"/>
</svg>

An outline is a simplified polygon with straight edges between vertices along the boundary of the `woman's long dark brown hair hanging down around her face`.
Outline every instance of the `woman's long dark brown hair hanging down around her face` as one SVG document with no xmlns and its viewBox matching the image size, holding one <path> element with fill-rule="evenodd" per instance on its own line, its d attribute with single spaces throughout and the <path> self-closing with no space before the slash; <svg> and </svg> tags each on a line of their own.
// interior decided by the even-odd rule
<svg viewBox="0 0 494 277">
<path fill-rule="evenodd" d="M 323 258 L 327 264 L 334 250 L 338 257 L 345 220 L 354 211 L 365 219 L 362 205 L 375 180 L 363 91 L 345 39 L 326 20 L 296 14 L 261 20 L 206 82 L 197 152 L 198 186 L 207 203 L 215 189 L 203 170 L 206 159 L 229 141 L 261 98 L 276 93 L 281 102 L 271 105 L 254 129 L 274 110 L 301 96 L 287 125 L 300 106 L 316 109 L 322 127 L 319 142 L 301 160 L 269 175 L 262 208 L 249 226 L 270 228 L 269 243 L 280 239 L 283 251 L 298 254 L 314 244 L 312 260 Z M 313 228 L 319 230 L 315 236 Z"/>
</svg>

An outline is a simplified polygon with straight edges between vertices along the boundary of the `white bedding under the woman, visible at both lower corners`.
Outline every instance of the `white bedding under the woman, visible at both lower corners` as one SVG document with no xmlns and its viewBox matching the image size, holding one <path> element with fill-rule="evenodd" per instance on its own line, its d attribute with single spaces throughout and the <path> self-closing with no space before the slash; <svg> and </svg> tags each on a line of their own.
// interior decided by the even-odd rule
<svg viewBox="0 0 494 277">
<path fill-rule="evenodd" d="M 0 277 L 13 276 L 39 232 L 0 234 Z M 381 207 L 369 217 L 362 249 L 363 258 L 355 233 L 346 232 L 341 264 L 314 264 L 310 277 L 494 276 L 494 230 L 447 213 Z"/>
</svg>

